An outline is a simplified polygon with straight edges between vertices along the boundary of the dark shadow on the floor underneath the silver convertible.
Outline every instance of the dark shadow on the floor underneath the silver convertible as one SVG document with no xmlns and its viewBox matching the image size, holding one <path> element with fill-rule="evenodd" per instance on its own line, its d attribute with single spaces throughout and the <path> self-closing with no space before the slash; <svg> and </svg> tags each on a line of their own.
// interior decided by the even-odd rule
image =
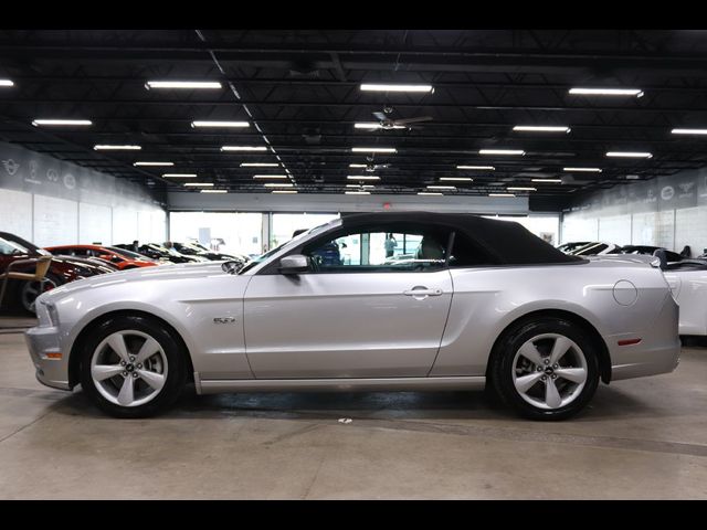
<svg viewBox="0 0 707 530">
<path fill-rule="evenodd" d="M 55 402 L 60 414 L 107 417 L 81 390 Z M 620 389 L 601 385 L 592 402 L 571 421 L 595 422 L 616 417 L 668 414 Z M 273 392 L 197 395 L 189 386 L 159 418 L 254 417 L 273 420 L 410 420 L 514 421 L 513 410 L 485 391 L 447 392 Z"/>
</svg>

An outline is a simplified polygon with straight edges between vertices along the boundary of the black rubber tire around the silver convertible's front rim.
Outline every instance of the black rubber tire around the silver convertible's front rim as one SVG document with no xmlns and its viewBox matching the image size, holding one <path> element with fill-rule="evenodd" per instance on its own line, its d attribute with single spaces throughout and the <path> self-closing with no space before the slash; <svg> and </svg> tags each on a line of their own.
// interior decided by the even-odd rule
<svg viewBox="0 0 707 530">
<path fill-rule="evenodd" d="M 123 406 L 108 401 L 96 388 L 91 374 L 91 360 L 101 342 L 112 333 L 124 330 L 141 331 L 155 339 L 167 359 L 167 378 L 158 394 L 137 406 Z M 83 342 L 81 354 L 81 386 L 103 412 L 122 418 L 148 417 L 169 409 L 180 396 L 187 383 L 187 354 L 175 331 L 159 321 L 139 315 L 120 315 L 103 321 Z"/>
</svg>

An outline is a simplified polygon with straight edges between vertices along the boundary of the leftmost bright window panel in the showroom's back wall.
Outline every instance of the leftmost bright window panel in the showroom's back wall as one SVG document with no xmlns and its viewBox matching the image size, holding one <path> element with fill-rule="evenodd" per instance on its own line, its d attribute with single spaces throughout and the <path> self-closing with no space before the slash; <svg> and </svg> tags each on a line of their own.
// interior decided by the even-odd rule
<svg viewBox="0 0 707 530">
<path fill-rule="evenodd" d="M 172 212 L 169 234 L 172 241 L 199 241 L 224 254 L 263 253 L 262 213 Z"/>
</svg>

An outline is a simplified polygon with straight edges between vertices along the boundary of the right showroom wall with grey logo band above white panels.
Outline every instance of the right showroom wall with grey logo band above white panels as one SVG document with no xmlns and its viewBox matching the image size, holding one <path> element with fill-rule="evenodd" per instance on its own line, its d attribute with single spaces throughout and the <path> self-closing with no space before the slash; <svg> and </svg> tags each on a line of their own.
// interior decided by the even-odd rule
<svg viewBox="0 0 707 530">
<path fill-rule="evenodd" d="M 583 198 L 563 213 L 562 243 L 605 241 L 657 245 L 693 256 L 707 248 L 707 168 L 618 186 Z"/>
</svg>

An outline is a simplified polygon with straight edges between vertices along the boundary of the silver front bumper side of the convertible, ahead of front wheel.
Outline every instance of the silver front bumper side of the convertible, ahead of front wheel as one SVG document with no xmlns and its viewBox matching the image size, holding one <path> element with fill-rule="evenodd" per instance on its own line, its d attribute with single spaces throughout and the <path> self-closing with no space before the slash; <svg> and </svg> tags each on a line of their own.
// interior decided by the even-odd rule
<svg viewBox="0 0 707 530">
<path fill-rule="evenodd" d="M 40 383 L 54 389 L 71 390 L 68 384 L 68 352 L 61 350 L 59 329 L 54 327 L 30 328 L 24 340 L 34 363 Z M 52 359 L 49 353 L 61 352 L 61 359 Z"/>
</svg>

